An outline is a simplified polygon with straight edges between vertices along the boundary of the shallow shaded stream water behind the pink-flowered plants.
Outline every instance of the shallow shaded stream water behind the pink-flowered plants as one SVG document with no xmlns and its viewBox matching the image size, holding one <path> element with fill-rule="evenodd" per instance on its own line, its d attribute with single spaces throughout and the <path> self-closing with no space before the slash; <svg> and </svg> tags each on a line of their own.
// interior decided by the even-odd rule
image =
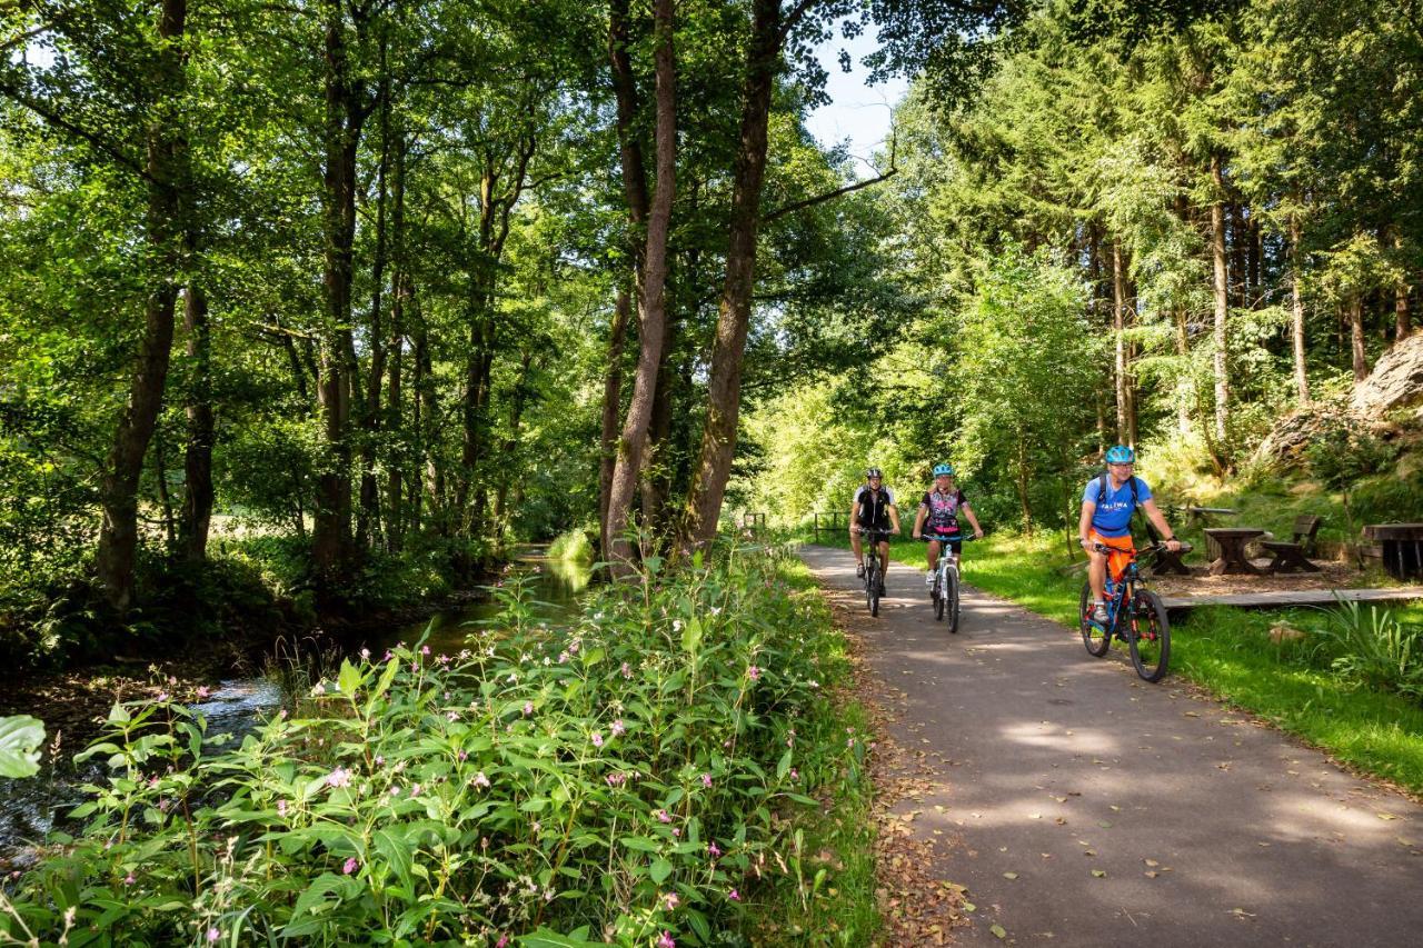
<svg viewBox="0 0 1423 948">
<path fill-rule="evenodd" d="M 521 557 L 517 569 L 528 571 L 528 591 L 534 599 L 535 621 L 555 623 L 568 615 L 579 594 L 588 586 L 591 572 L 581 564 Z M 428 619 L 393 625 L 370 636 L 369 645 L 388 648 L 397 642 L 414 643 L 428 629 L 427 645 L 434 652 L 455 653 L 465 648 L 465 636 L 480 623 L 495 618 L 502 606 L 492 599 L 461 604 Z M 282 706 L 282 688 L 268 678 L 222 680 L 206 700 L 189 705 L 208 719 L 208 734 L 232 734 L 240 740 Z M 54 828 L 65 828 L 64 814 L 78 806 L 80 787 L 104 779 L 102 760 L 75 766 L 68 756 L 46 764 L 28 780 L 0 779 L 0 871 L 23 868 L 34 861 L 30 843 L 44 840 Z"/>
</svg>

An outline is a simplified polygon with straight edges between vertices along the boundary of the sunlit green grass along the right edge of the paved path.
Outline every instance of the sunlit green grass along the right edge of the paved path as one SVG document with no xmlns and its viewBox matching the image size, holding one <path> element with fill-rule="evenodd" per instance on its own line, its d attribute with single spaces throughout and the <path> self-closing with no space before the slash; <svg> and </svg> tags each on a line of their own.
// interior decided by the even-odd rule
<svg viewBox="0 0 1423 948">
<path fill-rule="evenodd" d="M 821 534 L 824 538 L 824 532 Z M 844 537 L 834 545 L 848 547 Z M 891 559 L 924 568 L 924 545 L 891 544 Z M 1083 574 L 1064 575 L 1062 532 L 993 535 L 965 545 L 966 582 L 1076 628 Z M 1423 605 L 1395 608 L 1402 622 L 1423 623 Z M 1308 633 L 1303 645 L 1275 645 L 1269 629 L 1288 623 Z M 1192 609 L 1171 626 L 1171 673 L 1272 722 L 1338 760 L 1423 793 L 1423 707 L 1392 692 L 1335 675 L 1319 646 L 1328 618 L 1321 609 Z"/>
</svg>

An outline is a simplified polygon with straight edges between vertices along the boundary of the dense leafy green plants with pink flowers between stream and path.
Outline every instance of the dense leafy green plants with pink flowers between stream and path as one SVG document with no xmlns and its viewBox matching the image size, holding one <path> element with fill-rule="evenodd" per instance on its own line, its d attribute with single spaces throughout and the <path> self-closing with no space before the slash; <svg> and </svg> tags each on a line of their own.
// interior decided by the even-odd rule
<svg viewBox="0 0 1423 948">
<path fill-rule="evenodd" d="M 24 934 L 21 920 L 43 939 L 145 945 L 734 932 L 741 900 L 784 871 L 787 811 L 859 780 L 859 734 L 835 732 L 822 688 L 840 672 L 821 608 L 764 554 L 608 588 L 562 631 L 534 621 L 522 584 L 497 595 L 502 618 L 458 655 L 363 653 L 239 747 L 179 703 L 115 707 L 81 754 L 111 769 L 87 787 L 84 831 L 14 884 L 0 932 Z"/>
</svg>

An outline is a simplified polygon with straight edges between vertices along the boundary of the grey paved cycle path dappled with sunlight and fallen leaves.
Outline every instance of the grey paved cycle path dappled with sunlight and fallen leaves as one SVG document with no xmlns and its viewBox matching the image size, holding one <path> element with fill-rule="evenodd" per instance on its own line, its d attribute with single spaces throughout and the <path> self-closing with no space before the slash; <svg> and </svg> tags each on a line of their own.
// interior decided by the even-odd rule
<svg viewBox="0 0 1423 948">
<path fill-rule="evenodd" d="M 848 551 L 801 557 L 861 589 Z M 891 564 L 887 585 L 855 625 L 904 693 L 892 736 L 936 769 L 895 810 L 951 841 L 935 875 L 976 905 L 959 941 L 1423 944 L 1423 807 L 1007 601 L 966 588 L 949 635 L 921 569 Z"/>
</svg>

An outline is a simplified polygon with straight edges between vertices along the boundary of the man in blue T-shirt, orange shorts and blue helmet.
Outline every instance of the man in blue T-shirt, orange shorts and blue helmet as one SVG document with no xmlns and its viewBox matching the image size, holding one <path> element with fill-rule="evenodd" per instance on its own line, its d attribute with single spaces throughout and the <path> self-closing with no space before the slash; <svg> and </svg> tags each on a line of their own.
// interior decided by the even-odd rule
<svg viewBox="0 0 1423 948">
<path fill-rule="evenodd" d="M 1131 544 L 1131 514 L 1140 504 L 1151 524 L 1161 532 L 1167 549 L 1175 552 L 1181 542 L 1175 538 L 1165 517 L 1151 500 L 1151 488 L 1131 473 L 1137 461 L 1136 451 L 1124 444 L 1107 448 L 1107 473 L 1087 481 L 1081 493 L 1081 517 L 1077 521 L 1077 539 L 1087 551 L 1087 582 L 1091 584 L 1091 621 L 1107 621 L 1104 589 L 1107 568 L 1113 578 L 1120 578 L 1136 547 Z M 1111 554 L 1097 552 L 1093 547 L 1110 547 Z"/>
</svg>

